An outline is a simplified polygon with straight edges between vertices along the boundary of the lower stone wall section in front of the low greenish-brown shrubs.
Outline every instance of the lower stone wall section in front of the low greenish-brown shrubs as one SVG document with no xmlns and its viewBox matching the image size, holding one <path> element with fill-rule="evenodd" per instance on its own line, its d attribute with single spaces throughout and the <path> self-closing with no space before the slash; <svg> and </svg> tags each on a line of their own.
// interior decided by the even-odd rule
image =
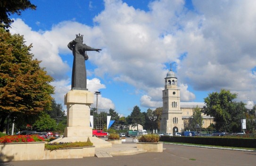
<svg viewBox="0 0 256 166">
<path fill-rule="evenodd" d="M 95 146 L 86 146 L 78 148 L 58 149 L 54 151 L 44 150 L 43 159 L 83 158 L 93 157 L 94 155 Z"/>
</svg>

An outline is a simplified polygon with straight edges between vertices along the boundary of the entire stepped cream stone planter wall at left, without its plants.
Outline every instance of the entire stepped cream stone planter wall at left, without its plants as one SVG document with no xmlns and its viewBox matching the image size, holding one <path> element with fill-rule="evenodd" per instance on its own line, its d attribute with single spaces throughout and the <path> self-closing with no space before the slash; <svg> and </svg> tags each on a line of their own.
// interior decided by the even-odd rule
<svg viewBox="0 0 256 166">
<path fill-rule="evenodd" d="M 44 149 L 44 144 L 45 142 L 0 143 L 0 161 L 83 158 L 95 155 L 95 146 L 50 151 Z"/>
</svg>

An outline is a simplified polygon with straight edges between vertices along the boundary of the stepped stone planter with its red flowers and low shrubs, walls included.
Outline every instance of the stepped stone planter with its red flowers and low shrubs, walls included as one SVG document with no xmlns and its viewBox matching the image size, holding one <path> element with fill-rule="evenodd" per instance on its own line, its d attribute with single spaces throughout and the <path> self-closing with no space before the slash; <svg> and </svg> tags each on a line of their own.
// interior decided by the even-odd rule
<svg viewBox="0 0 256 166">
<path fill-rule="evenodd" d="M 95 154 L 95 146 L 90 146 L 92 143 L 76 143 L 83 147 L 74 147 L 72 143 L 67 143 L 65 148 L 58 146 L 49 148 L 50 150 L 45 149 L 45 143 L 37 135 L 0 137 L 0 161 L 83 158 Z"/>
</svg>

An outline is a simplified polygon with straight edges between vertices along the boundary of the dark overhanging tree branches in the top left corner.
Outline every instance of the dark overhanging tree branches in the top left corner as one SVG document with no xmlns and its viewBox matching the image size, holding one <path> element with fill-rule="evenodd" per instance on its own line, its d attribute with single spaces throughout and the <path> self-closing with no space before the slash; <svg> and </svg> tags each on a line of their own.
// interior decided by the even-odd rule
<svg viewBox="0 0 256 166">
<path fill-rule="evenodd" d="M 11 14 L 21 15 L 21 11 L 30 8 L 35 10 L 36 6 L 30 0 L 1 0 L 0 2 L 0 27 L 8 29 L 13 23 L 9 18 Z"/>
</svg>

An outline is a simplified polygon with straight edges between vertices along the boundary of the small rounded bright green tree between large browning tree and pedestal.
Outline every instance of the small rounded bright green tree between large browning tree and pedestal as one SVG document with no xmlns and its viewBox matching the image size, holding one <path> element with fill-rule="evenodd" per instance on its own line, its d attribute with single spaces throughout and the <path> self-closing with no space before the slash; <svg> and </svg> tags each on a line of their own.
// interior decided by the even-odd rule
<svg viewBox="0 0 256 166">
<path fill-rule="evenodd" d="M 43 113 L 33 124 L 33 128 L 39 131 L 55 131 L 57 128 L 56 121 L 50 118 L 50 115 Z"/>
</svg>

